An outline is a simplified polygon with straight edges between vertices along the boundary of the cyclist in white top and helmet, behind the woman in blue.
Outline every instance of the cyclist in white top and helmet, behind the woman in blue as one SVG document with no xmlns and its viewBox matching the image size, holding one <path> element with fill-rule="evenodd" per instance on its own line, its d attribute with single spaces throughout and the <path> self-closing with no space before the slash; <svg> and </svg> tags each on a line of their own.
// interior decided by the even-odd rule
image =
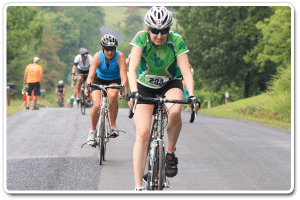
<svg viewBox="0 0 300 200">
<path fill-rule="evenodd" d="M 75 73 L 77 69 L 77 85 L 75 90 L 75 98 L 79 102 L 79 94 L 80 94 L 80 88 L 81 83 L 83 80 L 82 76 L 80 74 L 89 74 L 90 65 L 92 62 L 93 57 L 89 54 L 89 51 L 86 48 L 80 48 L 79 54 L 74 59 L 74 65 L 72 68 L 72 77 L 75 78 Z"/>
</svg>

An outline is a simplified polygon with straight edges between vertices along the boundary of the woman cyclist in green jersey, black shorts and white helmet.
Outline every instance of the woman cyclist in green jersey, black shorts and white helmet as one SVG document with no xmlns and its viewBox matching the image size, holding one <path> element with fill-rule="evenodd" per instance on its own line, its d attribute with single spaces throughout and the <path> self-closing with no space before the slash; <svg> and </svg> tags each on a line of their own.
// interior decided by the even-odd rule
<svg viewBox="0 0 300 200">
<path fill-rule="evenodd" d="M 194 97 L 194 80 L 190 71 L 188 49 L 182 37 L 170 30 L 173 17 L 165 7 L 152 7 L 145 15 L 146 29 L 140 31 L 130 43 L 133 47 L 129 63 L 129 85 L 132 94 L 144 97 L 164 95 L 168 99 L 183 100 L 182 77 L 191 99 Z M 131 95 L 131 97 L 133 96 Z M 132 108 L 133 100 L 128 102 Z M 166 175 L 177 174 L 178 159 L 175 146 L 182 126 L 180 104 L 166 104 L 168 112 L 168 147 Z M 139 101 L 134 114 L 136 141 L 133 149 L 133 165 L 136 190 L 141 190 L 147 159 L 151 119 L 154 105 Z"/>
</svg>

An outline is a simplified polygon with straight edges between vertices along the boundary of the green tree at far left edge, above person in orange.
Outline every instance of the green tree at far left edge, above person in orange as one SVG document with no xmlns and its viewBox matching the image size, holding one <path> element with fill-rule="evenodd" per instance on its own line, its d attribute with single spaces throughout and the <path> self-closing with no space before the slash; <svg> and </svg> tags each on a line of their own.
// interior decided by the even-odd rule
<svg viewBox="0 0 300 200">
<path fill-rule="evenodd" d="M 32 60 L 43 42 L 44 23 L 39 10 L 28 6 L 7 8 L 7 82 L 15 83 L 11 96 L 21 97 L 23 76 L 27 64 Z"/>
</svg>

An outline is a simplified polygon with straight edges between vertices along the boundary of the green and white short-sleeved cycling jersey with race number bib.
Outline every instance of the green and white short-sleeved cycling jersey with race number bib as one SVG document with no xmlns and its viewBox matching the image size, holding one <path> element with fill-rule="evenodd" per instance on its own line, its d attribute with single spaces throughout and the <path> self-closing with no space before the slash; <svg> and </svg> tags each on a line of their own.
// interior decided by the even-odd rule
<svg viewBox="0 0 300 200">
<path fill-rule="evenodd" d="M 167 41 L 155 47 L 149 41 L 146 30 L 140 31 L 131 41 L 143 51 L 140 67 L 137 72 L 138 83 L 153 89 L 158 89 L 171 80 L 181 80 L 181 72 L 177 66 L 177 57 L 187 53 L 181 35 L 170 30 Z"/>
</svg>

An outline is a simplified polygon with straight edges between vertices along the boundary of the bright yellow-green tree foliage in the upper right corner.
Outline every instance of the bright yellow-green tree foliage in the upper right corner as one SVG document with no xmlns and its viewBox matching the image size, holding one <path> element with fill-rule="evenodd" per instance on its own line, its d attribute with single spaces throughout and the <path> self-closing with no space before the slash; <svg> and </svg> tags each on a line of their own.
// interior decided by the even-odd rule
<svg viewBox="0 0 300 200">
<path fill-rule="evenodd" d="M 273 8 L 275 13 L 256 25 L 263 37 L 244 57 L 248 63 L 254 61 L 260 71 L 265 70 L 268 62 L 279 68 L 291 65 L 291 8 Z"/>
</svg>

